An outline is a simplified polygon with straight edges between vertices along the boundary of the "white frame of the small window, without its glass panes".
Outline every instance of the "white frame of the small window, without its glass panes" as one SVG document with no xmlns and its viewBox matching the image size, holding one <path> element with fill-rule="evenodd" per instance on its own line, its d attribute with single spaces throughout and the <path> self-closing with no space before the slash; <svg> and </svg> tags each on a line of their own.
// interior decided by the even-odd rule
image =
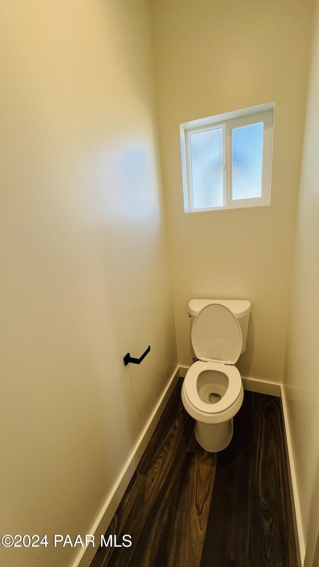
<svg viewBox="0 0 319 567">
<path fill-rule="evenodd" d="M 192 120 L 181 124 L 181 155 L 184 212 L 200 213 L 203 211 L 220 209 L 238 209 L 242 207 L 256 207 L 270 205 L 271 189 L 271 162 L 272 162 L 272 136 L 274 126 L 275 103 L 260 104 L 255 107 L 244 108 L 239 111 L 227 112 L 223 115 Z M 247 199 L 232 198 L 232 130 L 250 124 L 263 122 L 262 140 L 262 187 L 261 197 Z M 215 128 L 222 129 L 223 144 L 223 205 L 205 209 L 194 209 L 192 191 L 190 135 L 194 132 L 204 132 Z"/>
</svg>

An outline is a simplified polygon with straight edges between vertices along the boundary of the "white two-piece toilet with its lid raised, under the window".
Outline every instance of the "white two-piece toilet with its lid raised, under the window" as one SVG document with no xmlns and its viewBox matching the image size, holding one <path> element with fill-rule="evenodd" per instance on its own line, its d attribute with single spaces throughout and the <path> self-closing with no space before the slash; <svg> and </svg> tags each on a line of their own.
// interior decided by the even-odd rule
<svg viewBox="0 0 319 567">
<path fill-rule="evenodd" d="M 233 417 L 244 400 L 234 364 L 246 349 L 251 304 L 233 299 L 192 299 L 191 339 L 199 359 L 182 387 L 184 408 L 194 417 L 195 437 L 205 450 L 221 451 L 233 437 Z"/>
</svg>

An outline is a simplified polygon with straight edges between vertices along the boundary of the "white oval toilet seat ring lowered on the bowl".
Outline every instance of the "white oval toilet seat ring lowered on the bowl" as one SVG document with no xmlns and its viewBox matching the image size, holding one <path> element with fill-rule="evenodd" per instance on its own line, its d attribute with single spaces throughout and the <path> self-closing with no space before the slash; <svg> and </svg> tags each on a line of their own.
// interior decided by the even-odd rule
<svg viewBox="0 0 319 567">
<path fill-rule="evenodd" d="M 216 404 L 206 404 L 198 394 L 199 375 L 207 370 L 223 373 L 228 378 L 228 388 Z M 195 420 L 207 424 L 230 420 L 240 409 L 243 399 L 244 388 L 236 366 L 229 366 L 219 361 L 198 361 L 187 371 L 182 387 L 182 401 L 186 411 Z"/>
</svg>

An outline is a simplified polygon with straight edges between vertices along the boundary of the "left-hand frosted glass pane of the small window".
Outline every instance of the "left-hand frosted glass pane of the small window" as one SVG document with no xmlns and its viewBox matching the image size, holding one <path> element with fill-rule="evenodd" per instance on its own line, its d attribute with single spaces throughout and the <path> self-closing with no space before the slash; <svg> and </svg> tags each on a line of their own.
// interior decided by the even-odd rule
<svg viewBox="0 0 319 567">
<path fill-rule="evenodd" d="M 190 134 L 194 209 L 223 206 L 221 128 Z"/>
</svg>

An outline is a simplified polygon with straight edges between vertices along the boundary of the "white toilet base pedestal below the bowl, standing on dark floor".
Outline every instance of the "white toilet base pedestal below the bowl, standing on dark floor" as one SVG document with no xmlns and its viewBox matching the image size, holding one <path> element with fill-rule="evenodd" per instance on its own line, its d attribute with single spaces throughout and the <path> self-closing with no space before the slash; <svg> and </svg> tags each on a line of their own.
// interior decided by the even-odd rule
<svg viewBox="0 0 319 567">
<path fill-rule="evenodd" d="M 216 453 L 223 451 L 233 437 L 233 417 L 221 424 L 203 424 L 195 421 L 195 437 L 199 445 L 205 449 Z"/>
</svg>

